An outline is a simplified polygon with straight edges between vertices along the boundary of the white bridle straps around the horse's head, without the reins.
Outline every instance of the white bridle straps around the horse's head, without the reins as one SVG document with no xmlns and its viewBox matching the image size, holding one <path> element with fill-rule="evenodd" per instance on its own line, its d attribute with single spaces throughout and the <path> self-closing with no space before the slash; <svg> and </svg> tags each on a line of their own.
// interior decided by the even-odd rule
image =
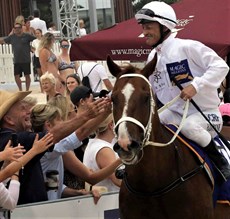
<svg viewBox="0 0 230 219">
<path fill-rule="evenodd" d="M 147 82 L 147 84 L 149 85 L 149 92 L 150 92 L 150 113 L 149 113 L 149 120 L 146 126 L 144 126 L 140 121 L 138 121 L 137 119 L 130 117 L 130 116 L 123 116 L 121 117 L 116 123 L 115 123 L 115 127 L 114 130 L 116 130 L 116 128 L 122 123 L 122 122 L 132 122 L 134 124 L 136 124 L 137 126 L 139 126 L 143 132 L 144 132 L 144 139 L 141 142 L 141 147 L 143 148 L 146 144 L 146 142 L 149 141 L 149 137 L 152 131 L 152 116 L 154 114 L 154 107 L 155 107 L 155 102 L 153 100 L 153 91 L 152 91 L 152 86 L 149 83 L 148 79 L 141 75 L 141 74 L 135 74 L 135 73 L 131 73 L 131 74 L 124 74 L 122 75 L 119 79 L 121 78 L 125 78 L 125 77 L 138 77 L 138 78 L 142 78 L 143 80 L 145 80 Z M 119 80 L 118 79 L 118 80 Z"/>
</svg>

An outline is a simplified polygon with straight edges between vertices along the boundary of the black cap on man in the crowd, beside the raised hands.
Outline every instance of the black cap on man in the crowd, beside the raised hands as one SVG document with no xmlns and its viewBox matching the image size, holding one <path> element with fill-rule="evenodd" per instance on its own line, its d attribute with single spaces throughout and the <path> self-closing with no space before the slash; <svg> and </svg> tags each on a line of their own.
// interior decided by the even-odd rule
<svg viewBox="0 0 230 219">
<path fill-rule="evenodd" d="M 70 93 L 70 99 L 74 105 L 77 105 L 81 99 L 89 97 L 90 94 L 93 94 L 93 97 L 99 96 L 99 93 L 93 93 L 90 88 L 80 85 Z"/>
</svg>

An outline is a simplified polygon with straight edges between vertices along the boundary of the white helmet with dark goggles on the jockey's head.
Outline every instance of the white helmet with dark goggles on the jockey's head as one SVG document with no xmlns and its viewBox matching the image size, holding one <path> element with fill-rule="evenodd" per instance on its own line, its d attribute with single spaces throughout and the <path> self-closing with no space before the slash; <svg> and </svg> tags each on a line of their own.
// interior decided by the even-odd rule
<svg viewBox="0 0 230 219">
<path fill-rule="evenodd" d="M 135 15 L 138 23 L 143 21 L 157 21 L 172 30 L 177 25 L 173 8 L 165 2 L 152 1 L 143 6 Z"/>
</svg>

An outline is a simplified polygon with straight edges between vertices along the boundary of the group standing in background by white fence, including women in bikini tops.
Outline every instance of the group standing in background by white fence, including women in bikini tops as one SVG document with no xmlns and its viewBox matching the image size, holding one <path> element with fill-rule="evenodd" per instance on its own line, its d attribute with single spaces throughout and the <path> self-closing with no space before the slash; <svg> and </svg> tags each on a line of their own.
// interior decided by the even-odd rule
<svg viewBox="0 0 230 219">
<path fill-rule="evenodd" d="M 19 15 L 15 18 L 14 27 L 7 37 L 0 38 L 0 44 L 11 44 L 13 49 L 14 77 L 18 89 L 22 91 L 21 77 L 24 75 L 26 82 L 26 91 L 30 89 L 31 84 L 31 53 L 33 61 L 33 73 L 36 80 L 39 80 L 42 74 L 50 72 L 56 78 L 56 88 L 64 92 L 65 79 L 68 72 L 77 72 L 77 62 L 71 62 L 69 58 L 70 42 L 62 39 L 60 44 L 61 54 L 57 56 L 54 53 L 54 43 L 58 42 L 53 34 L 56 26 L 53 22 L 48 25 L 40 19 L 39 10 L 34 10 L 33 15 L 28 18 Z M 86 35 L 84 21 L 79 20 L 80 35 Z M 72 71 L 70 70 L 72 69 Z M 41 88 L 42 91 L 42 88 Z"/>
</svg>

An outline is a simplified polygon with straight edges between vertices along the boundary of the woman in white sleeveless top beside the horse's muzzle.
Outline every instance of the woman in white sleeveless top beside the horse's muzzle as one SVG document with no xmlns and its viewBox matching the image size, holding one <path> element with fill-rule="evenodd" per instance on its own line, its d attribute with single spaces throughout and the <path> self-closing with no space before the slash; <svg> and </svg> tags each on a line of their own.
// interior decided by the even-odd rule
<svg viewBox="0 0 230 219">
<path fill-rule="evenodd" d="M 90 139 L 84 153 L 83 163 L 93 171 L 102 169 L 110 165 L 117 159 L 117 154 L 113 151 L 113 117 L 110 114 L 96 130 L 96 137 Z M 108 191 L 118 191 L 121 180 L 117 179 L 113 173 L 107 179 L 97 183 L 98 186 L 107 187 Z"/>
</svg>

